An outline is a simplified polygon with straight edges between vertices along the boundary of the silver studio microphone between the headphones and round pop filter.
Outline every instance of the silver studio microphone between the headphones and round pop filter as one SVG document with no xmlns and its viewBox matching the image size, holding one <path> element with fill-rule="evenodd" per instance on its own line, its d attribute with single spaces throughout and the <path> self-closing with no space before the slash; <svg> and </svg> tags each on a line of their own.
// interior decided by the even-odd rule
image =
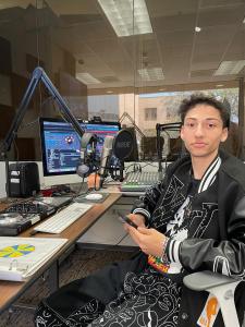
<svg viewBox="0 0 245 327">
<path fill-rule="evenodd" d="M 102 187 L 105 178 L 107 175 L 107 166 L 112 155 L 113 141 L 114 136 L 111 135 L 107 135 L 103 141 L 103 147 L 100 157 L 100 168 L 98 170 L 98 173 L 100 175 L 99 187 Z"/>
</svg>

